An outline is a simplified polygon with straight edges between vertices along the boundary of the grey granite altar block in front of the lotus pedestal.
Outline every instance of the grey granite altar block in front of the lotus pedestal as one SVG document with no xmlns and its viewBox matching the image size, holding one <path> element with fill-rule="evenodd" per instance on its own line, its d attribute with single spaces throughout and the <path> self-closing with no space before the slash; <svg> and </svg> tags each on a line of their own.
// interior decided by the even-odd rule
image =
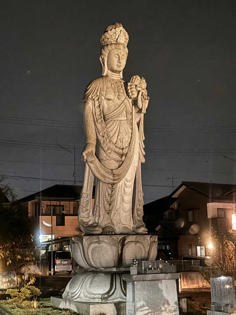
<svg viewBox="0 0 236 315">
<path fill-rule="evenodd" d="M 122 278 L 127 282 L 126 314 L 179 315 L 179 273 L 123 274 Z"/>
</svg>

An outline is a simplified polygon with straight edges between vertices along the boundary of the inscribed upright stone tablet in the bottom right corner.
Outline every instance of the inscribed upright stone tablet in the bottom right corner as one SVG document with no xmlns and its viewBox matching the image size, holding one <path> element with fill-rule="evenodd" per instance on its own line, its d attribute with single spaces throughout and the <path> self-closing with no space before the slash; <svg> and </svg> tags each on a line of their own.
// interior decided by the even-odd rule
<svg viewBox="0 0 236 315">
<path fill-rule="evenodd" d="M 211 276 L 211 310 L 208 315 L 233 314 L 236 311 L 234 278 Z"/>
</svg>

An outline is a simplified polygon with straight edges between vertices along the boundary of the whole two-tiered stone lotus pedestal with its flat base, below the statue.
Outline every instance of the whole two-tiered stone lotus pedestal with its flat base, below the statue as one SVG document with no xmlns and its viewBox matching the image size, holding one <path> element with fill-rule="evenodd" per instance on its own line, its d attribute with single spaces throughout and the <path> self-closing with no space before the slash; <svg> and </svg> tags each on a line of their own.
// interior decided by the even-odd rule
<svg viewBox="0 0 236 315">
<path fill-rule="evenodd" d="M 70 308 L 81 315 L 126 314 L 126 281 L 134 258 L 155 260 L 156 235 L 92 235 L 74 237 L 74 260 L 86 272 L 76 274 L 67 284 L 62 298 L 53 305 Z"/>
</svg>

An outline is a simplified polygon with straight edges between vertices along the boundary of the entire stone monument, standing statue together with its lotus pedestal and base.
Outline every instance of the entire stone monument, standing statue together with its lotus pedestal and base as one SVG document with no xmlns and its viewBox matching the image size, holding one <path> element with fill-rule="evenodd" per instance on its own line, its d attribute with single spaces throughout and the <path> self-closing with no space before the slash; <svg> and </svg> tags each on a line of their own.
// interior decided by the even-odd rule
<svg viewBox="0 0 236 315">
<path fill-rule="evenodd" d="M 63 299 L 52 298 L 54 305 L 81 315 L 125 315 L 122 275 L 130 272 L 133 258 L 152 261 L 157 255 L 157 236 L 147 234 L 142 218 L 143 116 L 149 97 L 143 77 L 122 79 L 128 39 L 121 23 L 105 29 L 102 77 L 88 84 L 83 98 L 85 174 L 78 222 L 84 236 L 73 238 L 71 251 L 87 271 L 70 280 Z"/>
</svg>

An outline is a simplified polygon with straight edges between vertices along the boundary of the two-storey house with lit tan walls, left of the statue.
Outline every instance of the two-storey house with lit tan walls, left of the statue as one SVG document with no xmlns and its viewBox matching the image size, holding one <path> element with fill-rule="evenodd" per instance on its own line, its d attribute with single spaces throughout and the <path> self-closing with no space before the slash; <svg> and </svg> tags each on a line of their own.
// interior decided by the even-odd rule
<svg viewBox="0 0 236 315">
<path fill-rule="evenodd" d="M 28 216 L 37 220 L 40 242 L 51 239 L 51 232 L 53 239 L 84 234 L 77 221 L 81 190 L 82 186 L 54 185 L 18 200 L 28 208 Z"/>
</svg>

